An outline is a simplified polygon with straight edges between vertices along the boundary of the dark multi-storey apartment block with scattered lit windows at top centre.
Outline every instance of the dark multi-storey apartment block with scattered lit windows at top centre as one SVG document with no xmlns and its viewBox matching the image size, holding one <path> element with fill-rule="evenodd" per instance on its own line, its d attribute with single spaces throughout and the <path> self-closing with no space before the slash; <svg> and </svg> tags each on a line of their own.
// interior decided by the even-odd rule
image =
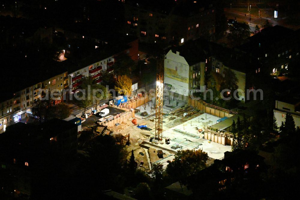
<svg viewBox="0 0 300 200">
<path fill-rule="evenodd" d="M 149 43 L 182 45 L 215 32 L 215 13 L 210 1 L 191 0 L 123 2 L 125 32 Z"/>
</svg>

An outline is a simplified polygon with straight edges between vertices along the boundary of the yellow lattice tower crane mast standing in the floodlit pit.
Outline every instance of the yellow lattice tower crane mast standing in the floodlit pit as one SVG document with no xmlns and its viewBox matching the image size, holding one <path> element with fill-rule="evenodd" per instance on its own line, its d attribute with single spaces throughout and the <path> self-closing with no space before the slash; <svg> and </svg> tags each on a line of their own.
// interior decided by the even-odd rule
<svg viewBox="0 0 300 200">
<path fill-rule="evenodd" d="M 159 60 L 157 65 L 156 77 L 156 104 L 155 104 L 155 138 L 163 138 L 163 92 L 164 92 L 164 74 L 163 62 Z"/>
</svg>

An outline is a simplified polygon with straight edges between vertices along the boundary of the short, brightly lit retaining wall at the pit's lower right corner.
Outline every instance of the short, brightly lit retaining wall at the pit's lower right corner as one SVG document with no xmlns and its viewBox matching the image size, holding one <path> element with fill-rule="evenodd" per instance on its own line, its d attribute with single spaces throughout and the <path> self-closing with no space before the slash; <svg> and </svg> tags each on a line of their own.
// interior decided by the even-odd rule
<svg viewBox="0 0 300 200">
<path fill-rule="evenodd" d="M 204 129 L 204 138 L 223 145 L 232 145 L 233 135 L 230 132 L 215 132 Z"/>
</svg>

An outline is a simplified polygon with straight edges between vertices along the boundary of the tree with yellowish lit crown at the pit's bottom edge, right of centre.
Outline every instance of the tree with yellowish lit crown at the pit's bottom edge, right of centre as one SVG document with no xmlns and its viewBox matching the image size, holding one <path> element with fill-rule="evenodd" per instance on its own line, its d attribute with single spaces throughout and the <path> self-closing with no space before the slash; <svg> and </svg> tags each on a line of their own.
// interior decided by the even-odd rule
<svg viewBox="0 0 300 200">
<path fill-rule="evenodd" d="M 182 150 L 175 155 L 175 161 L 169 163 L 166 172 L 180 185 L 186 185 L 189 176 L 206 167 L 207 153 L 202 150 Z"/>
</svg>

